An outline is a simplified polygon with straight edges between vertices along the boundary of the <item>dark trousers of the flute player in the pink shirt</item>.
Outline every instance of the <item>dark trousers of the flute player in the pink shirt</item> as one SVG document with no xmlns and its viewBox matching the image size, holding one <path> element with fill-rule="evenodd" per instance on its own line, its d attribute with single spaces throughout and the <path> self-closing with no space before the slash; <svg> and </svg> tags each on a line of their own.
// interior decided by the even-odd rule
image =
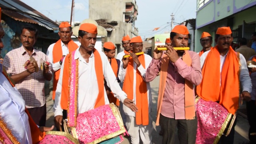
<svg viewBox="0 0 256 144">
<path fill-rule="evenodd" d="M 174 144 L 176 127 L 180 144 L 196 143 L 197 117 L 194 120 L 175 120 L 160 114 L 159 124 L 163 131 L 162 144 Z"/>
</svg>

